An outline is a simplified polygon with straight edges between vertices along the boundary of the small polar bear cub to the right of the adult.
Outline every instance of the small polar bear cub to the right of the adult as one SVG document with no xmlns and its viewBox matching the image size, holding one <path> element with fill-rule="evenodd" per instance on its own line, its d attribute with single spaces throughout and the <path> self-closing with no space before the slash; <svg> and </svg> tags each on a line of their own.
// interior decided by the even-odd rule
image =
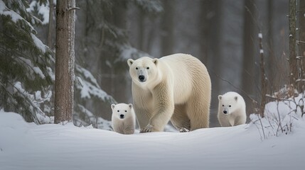
<svg viewBox="0 0 305 170">
<path fill-rule="evenodd" d="M 235 126 L 246 123 L 246 103 L 236 92 L 229 91 L 218 96 L 218 121 L 221 126 Z"/>
</svg>

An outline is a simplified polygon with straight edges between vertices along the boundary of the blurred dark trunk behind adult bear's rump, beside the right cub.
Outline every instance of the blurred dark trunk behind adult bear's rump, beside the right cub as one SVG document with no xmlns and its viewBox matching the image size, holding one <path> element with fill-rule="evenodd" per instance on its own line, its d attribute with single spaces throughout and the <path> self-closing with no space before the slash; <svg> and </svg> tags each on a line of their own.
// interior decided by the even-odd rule
<svg viewBox="0 0 305 170">
<path fill-rule="evenodd" d="M 213 84 L 212 96 L 220 94 L 220 77 L 223 62 L 221 60 L 221 18 L 223 16 L 222 2 L 214 0 L 200 1 L 200 52 L 201 56 L 196 56 L 203 61 L 208 68 L 210 79 Z M 216 69 L 218 68 L 218 69 Z M 218 98 L 211 98 L 211 113 L 217 112 Z M 216 110 L 213 110 L 216 108 Z M 210 114 L 210 127 L 219 126 L 218 118 L 215 114 Z"/>
</svg>

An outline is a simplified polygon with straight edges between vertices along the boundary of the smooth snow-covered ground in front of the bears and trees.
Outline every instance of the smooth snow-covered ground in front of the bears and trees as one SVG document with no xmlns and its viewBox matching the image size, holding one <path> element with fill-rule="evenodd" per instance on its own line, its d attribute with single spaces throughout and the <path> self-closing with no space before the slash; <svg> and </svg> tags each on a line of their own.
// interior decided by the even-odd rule
<svg viewBox="0 0 305 170">
<path fill-rule="evenodd" d="M 0 111 L 0 169 L 305 169 L 305 123 L 261 140 L 256 125 L 120 135 L 26 123 Z"/>
</svg>

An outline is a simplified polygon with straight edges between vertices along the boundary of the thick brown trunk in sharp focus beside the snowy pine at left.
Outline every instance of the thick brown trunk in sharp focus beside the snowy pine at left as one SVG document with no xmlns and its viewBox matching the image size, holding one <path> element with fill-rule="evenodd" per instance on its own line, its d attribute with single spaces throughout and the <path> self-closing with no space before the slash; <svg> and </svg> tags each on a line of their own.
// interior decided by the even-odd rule
<svg viewBox="0 0 305 170">
<path fill-rule="evenodd" d="M 56 3 L 55 118 L 72 121 L 74 91 L 75 0 Z"/>
</svg>

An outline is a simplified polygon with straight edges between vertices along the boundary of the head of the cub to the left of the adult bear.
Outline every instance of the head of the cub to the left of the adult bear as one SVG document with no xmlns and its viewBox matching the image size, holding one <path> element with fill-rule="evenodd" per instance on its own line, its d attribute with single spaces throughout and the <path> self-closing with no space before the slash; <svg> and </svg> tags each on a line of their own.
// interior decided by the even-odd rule
<svg viewBox="0 0 305 170">
<path fill-rule="evenodd" d="M 119 118 L 124 119 L 127 118 L 132 113 L 132 104 L 125 104 L 125 103 L 119 103 L 119 104 L 112 104 L 112 118 Z"/>
</svg>

